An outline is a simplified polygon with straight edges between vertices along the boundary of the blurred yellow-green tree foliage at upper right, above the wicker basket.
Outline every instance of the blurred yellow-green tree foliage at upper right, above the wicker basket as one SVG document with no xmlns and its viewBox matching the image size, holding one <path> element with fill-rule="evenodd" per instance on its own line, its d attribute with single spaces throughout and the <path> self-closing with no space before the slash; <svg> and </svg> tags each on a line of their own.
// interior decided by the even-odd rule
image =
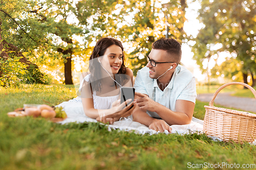
<svg viewBox="0 0 256 170">
<path fill-rule="evenodd" d="M 193 39 L 194 59 L 201 65 L 205 58 L 217 52 L 228 52 L 241 63 L 246 83 L 247 75 L 255 75 L 256 68 L 256 4 L 249 1 L 201 1 L 198 19 L 204 24 L 198 36 Z M 214 49 L 214 44 L 221 44 Z M 213 50 L 214 49 L 214 50 Z M 225 68 L 227 69 L 227 68 Z M 232 74 L 231 74 L 232 75 Z"/>
</svg>

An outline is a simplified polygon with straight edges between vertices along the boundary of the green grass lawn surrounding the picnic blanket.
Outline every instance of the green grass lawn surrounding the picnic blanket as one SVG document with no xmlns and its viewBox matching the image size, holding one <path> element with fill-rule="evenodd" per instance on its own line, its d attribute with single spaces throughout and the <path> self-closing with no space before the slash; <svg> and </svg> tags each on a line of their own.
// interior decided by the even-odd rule
<svg viewBox="0 0 256 170">
<path fill-rule="evenodd" d="M 205 134 L 137 135 L 109 132 L 99 123 L 59 125 L 40 117 L 10 118 L 6 114 L 26 103 L 57 105 L 75 96 L 73 86 L 0 87 L 0 169 L 187 169 L 191 164 L 256 164 L 254 145 L 215 142 Z M 203 119 L 204 105 L 208 103 L 197 101 L 195 117 Z"/>
</svg>

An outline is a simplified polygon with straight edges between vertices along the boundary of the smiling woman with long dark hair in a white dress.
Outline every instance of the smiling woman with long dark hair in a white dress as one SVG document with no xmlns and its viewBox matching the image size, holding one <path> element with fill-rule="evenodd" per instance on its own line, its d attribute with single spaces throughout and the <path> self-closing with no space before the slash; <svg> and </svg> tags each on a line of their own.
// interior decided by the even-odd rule
<svg viewBox="0 0 256 170">
<path fill-rule="evenodd" d="M 89 71 L 82 74 L 79 91 L 84 113 L 98 121 L 113 124 L 134 109 L 120 104 L 120 87 L 133 86 L 133 71 L 124 66 L 123 46 L 114 38 L 100 39 L 92 52 Z M 130 109 L 131 108 L 131 109 Z"/>
</svg>

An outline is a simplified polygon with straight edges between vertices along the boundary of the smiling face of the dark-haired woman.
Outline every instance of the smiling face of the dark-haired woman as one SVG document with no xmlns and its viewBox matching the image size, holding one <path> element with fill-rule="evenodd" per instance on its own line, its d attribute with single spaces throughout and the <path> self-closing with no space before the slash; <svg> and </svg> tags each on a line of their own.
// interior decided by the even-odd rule
<svg viewBox="0 0 256 170">
<path fill-rule="evenodd" d="M 117 74 L 123 63 L 122 58 L 122 48 L 114 44 L 106 48 L 104 56 L 100 58 L 100 62 L 108 72 Z"/>
</svg>

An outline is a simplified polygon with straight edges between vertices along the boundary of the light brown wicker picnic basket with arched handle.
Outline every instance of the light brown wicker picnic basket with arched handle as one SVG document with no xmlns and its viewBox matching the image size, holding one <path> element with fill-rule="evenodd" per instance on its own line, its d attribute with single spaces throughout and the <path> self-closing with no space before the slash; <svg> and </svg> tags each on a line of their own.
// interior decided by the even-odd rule
<svg viewBox="0 0 256 170">
<path fill-rule="evenodd" d="M 212 96 L 209 106 L 204 106 L 206 110 L 204 132 L 207 135 L 219 137 L 223 141 L 233 141 L 241 144 L 244 141 L 253 142 L 256 138 L 256 114 L 214 106 L 217 94 L 224 87 L 233 84 L 240 84 L 249 88 L 256 99 L 256 91 L 245 83 L 231 82 L 222 85 Z"/>
</svg>

